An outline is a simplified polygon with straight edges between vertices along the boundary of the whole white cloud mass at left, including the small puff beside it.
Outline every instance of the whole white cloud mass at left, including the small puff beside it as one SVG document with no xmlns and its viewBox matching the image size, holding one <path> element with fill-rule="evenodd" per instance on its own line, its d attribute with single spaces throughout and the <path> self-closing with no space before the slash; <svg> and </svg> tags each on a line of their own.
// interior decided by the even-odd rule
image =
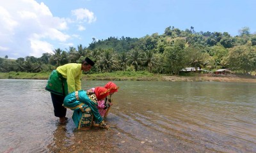
<svg viewBox="0 0 256 153">
<path fill-rule="evenodd" d="M 92 23 L 96 18 L 92 11 L 83 8 L 71 13 L 74 19 L 54 17 L 48 6 L 35 0 L 0 1 L 0 57 L 41 57 L 60 45 L 73 45 L 70 40 L 81 36 L 68 34 L 71 24 L 84 31 L 81 22 Z"/>
</svg>

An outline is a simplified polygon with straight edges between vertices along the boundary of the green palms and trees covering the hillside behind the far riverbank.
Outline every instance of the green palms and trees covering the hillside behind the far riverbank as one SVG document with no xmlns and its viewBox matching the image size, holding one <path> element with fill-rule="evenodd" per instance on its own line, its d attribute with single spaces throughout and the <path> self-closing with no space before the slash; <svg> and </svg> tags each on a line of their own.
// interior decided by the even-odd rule
<svg viewBox="0 0 256 153">
<path fill-rule="evenodd" d="M 249 27 L 239 30 L 239 35 L 228 33 L 196 32 L 194 27 L 182 31 L 166 27 L 163 34 L 154 33 L 142 38 L 109 37 L 95 40 L 88 47 L 77 45 L 65 50 L 56 48 L 53 54 L 42 57 L 0 58 L 0 72 L 52 71 L 70 62 L 81 62 L 90 57 L 96 62 L 90 73 L 113 71 L 149 71 L 179 75 L 186 67 L 209 71 L 229 68 L 239 73 L 256 71 L 256 34 Z"/>
</svg>

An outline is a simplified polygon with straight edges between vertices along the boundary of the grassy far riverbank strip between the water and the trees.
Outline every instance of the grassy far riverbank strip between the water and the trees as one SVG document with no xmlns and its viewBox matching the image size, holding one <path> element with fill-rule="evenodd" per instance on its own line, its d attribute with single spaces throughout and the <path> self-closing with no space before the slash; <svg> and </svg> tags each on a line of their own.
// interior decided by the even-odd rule
<svg viewBox="0 0 256 153">
<path fill-rule="evenodd" d="M 0 73 L 0 79 L 37 79 L 47 80 L 51 72 L 24 73 L 10 72 Z M 172 82 L 256 82 L 255 76 L 250 75 L 212 75 L 189 74 L 186 76 L 159 75 L 145 71 L 116 71 L 114 73 L 83 74 L 82 80 L 122 80 L 122 81 L 172 81 Z"/>
</svg>

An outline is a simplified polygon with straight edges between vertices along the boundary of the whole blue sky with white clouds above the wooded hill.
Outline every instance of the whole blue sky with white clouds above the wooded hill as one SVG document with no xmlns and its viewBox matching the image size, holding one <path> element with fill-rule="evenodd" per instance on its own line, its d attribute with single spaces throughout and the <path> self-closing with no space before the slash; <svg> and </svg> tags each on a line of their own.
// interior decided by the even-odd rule
<svg viewBox="0 0 256 153">
<path fill-rule="evenodd" d="M 0 57 L 42 57 L 109 37 L 142 38 L 166 27 L 239 35 L 256 33 L 255 0 L 0 1 Z"/>
</svg>

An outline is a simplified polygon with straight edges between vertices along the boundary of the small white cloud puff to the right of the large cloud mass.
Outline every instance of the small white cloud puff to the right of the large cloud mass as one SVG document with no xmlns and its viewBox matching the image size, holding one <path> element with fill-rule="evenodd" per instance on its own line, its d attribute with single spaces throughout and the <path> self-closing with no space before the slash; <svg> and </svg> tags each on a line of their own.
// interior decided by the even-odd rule
<svg viewBox="0 0 256 153">
<path fill-rule="evenodd" d="M 88 24 L 95 22 L 97 18 L 94 13 L 86 8 L 79 8 L 77 10 L 72 10 L 72 14 L 76 16 L 79 22 L 87 22 Z"/>
</svg>

